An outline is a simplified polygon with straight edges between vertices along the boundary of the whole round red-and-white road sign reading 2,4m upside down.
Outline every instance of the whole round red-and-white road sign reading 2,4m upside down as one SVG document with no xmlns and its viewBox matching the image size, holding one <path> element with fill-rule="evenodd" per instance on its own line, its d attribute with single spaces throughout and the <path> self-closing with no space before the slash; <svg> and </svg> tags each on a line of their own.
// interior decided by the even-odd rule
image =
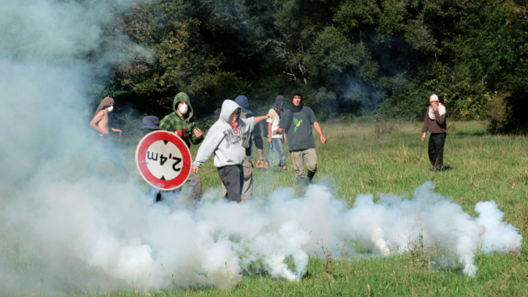
<svg viewBox="0 0 528 297">
<path fill-rule="evenodd" d="M 171 132 L 150 132 L 136 149 L 139 173 L 149 185 L 163 191 L 178 189 L 187 182 L 192 163 L 189 147 Z"/>
</svg>

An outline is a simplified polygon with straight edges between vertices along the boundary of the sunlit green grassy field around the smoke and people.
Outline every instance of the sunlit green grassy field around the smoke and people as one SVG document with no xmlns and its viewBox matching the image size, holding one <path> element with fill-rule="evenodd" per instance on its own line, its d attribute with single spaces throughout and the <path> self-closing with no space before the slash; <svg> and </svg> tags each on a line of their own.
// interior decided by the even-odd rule
<svg viewBox="0 0 528 297">
<path fill-rule="evenodd" d="M 444 154 L 444 171 L 433 173 L 427 156 L 427 139 L 422 142 L 421 123 L 382 122 L 322 125 L 328 142 L 317 143 L 316 183 L 331 185 L 335 195 L 351 206 L 359 193 L 411 191 L 431 180 L 436 191 L 476 215 L 475 204 L 495 200 L 504 220 L 523 235 L 523 251 L 511 254 L 479 254 L 477 277 L 457 268 L 435 270 L 427 253 L 398 255 L 383 259 L 350 260 L 328 252 L 312 257 L 307 274 L 299 282 L 262 277 L 244 277 L 234 289 L 169 287 L 164 292 L 128 292 L 115 296 L 528 296 L 528 139 L 485 133 L 481 122 L 449 123 Z M 315 133 L 315 132 L 314 132 Z M 121 141 L 119 152 L 129 169 L 136 139 Z M 265 150 L 269 146 L 265 145 Z M 193 147 L 193 156 L 197 147 Z M 287 146 L 285 147 L 287 150 Z M 294 187 L 291 156 L 287 171 L 279 167 L 254 170 L 254 199 L 267 199 L 277 187 Z M 87 162 L 87 160 L 86 160 Z M 106 159 L 95 174 L 114 176 L 117 171 Z M 204 191 L 220 183 L 212 160 L 200 170 Z M 135 178 L 135 177 L 134 177 Z M 138 179 L 138 182 L 141 180 Z M 347 260 L 344 260 L 347 258 Z M 134 291 L 133 291 L 134 290 Z M 87 291 L 87 295 L 97 295 Z M 105 295 L 106 296 L 106 295 Z"/>
</svg>

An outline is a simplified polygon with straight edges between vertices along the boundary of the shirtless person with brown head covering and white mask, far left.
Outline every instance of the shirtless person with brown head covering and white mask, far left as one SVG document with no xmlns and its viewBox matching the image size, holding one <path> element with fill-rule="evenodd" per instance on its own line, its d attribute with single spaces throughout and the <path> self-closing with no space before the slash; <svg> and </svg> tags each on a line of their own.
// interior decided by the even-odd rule
<svg viewBox="0 0 528 297">
<path fill-rule="evenodd" d="M 95 144 L 95 152 L 93 153 L 93 156 L 86 167 L 86 175 L 92 173 L 95 165 L 97 165 L 97 162 L 99 162 L 99 159 L 103 155 L 106 155 L 110 161 L 114 163 L 117 169 L 125 174 L 128 174 L 125 165 L 123 165 L 123 162 L 121 162 L 121 157 L 119 157 L 119 154 L 117 154 L 114 142 L 110 138 L 108 130 L 108 112 L 112 112 L 112 110 L 114 110 L 114 99 L 110 97 L 104 98 L 97 107 L 97 110 L 95 110 L 95 115 L 90 122 L 90 126 L 98 132 L 99 138 Z M 110 130 L 112 132 L 119 133 L 119 135 L 122 133 L 122 131 L 119 129 L 110 128 Z"/>
</svg>

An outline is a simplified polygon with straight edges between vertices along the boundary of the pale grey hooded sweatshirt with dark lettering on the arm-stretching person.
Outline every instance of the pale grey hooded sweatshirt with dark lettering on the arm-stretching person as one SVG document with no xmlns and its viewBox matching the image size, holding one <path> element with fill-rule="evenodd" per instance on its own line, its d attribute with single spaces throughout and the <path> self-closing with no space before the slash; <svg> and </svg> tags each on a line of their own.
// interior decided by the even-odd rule
<svg viewBox="0 0 528 297">
<path fill-rule="evenodd" d="M 215 153 L 215 167 L 224 167 L 228 165 L 241 165 L 245 158 L 245 148 L 242 146 L 242 137 L 244 134 L 250 134 L 253 131 L 256 121 L 254 117 L 249 119 L 238 119 L 235 132 L 229 124 L 229 117 L 241 108 L 232 100 L 225 100 L 222 104 L 220 118 L 211 126 L 204 142 L 198 149 L 193 166 L 202 167 L 209 159 L 213 152 Z"/>
</svg>

